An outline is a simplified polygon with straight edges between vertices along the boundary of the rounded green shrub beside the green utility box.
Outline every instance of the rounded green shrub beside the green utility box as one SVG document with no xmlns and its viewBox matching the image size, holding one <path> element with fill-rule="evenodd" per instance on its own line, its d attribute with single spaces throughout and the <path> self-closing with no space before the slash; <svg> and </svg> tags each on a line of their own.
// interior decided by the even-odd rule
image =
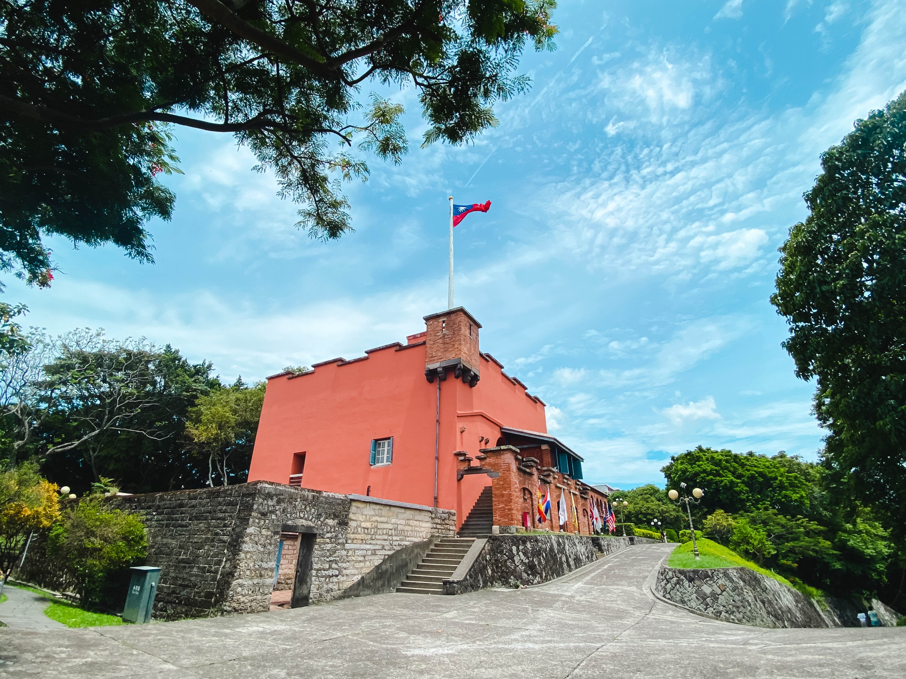
<svg viewBox="0 0 906 679">
<path fill-rule="evenodd" d="M 125 595 L 123 571 L 148 554 L 145 524 L 101 499 L 82 500 L 53 526 L 47 553 L 72 576 L 83 608 L 115 606 Z"/>
</svg>

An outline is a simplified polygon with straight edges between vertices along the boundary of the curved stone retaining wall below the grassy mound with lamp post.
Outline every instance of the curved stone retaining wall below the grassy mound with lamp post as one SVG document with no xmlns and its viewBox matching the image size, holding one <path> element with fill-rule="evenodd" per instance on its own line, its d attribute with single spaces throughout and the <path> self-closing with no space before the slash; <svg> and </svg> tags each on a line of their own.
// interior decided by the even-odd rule
<svg viewBox="0 0 906 679">
<path fill-rule="evenodd" d="M 728 622 L 760 627 L 854 627 L 864 602 L 826 598 L 826 608 L 796 589 L 745 567 L 671 569 L 661 565 L 654 584 L 658 596 Z M 895 625 L 898 614 L 872 599 L 883 625 Z"/>
</svg>

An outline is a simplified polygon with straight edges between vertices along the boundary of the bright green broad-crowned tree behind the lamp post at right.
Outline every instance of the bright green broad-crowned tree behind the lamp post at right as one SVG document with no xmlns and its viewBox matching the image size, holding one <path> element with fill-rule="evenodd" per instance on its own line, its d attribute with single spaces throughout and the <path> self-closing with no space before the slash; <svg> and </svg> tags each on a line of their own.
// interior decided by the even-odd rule
<svg viewBox="0 0 906 679">
<path fill-rule="evenodd" d="M 767 457 L 699 445 L 671 456 L 661 472 L 670 488 L 685 482 L 705 491 L 701 503 L 692 506 L 696 521 L 718 509 L 736 514 L 772 507 L 802 514 L 809 506 L 811 479 L 800 473 L 798 464 L 790 464 L 790 459 L 785 453 Z"/>
</svg>

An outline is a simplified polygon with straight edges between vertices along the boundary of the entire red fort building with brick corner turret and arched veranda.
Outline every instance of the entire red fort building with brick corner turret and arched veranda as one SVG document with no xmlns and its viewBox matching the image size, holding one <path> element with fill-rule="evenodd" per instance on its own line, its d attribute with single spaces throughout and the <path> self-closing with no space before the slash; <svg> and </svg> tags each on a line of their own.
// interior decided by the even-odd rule
<svg viewBox="0 0 906 679">
<path fill-rule="evenodd" d="M 564 494 L 566 530 L 590 532 L 589 503 L 606 496 L 582 483 L 582 457 L 546 433 L 545 403 L 480 351 L 481 325 L 465 309 L 425 323 L 405 345 L 268 378 L 248 480 L 453 509 L 460 527 L 475 508 L 477 531 L 467 528 L 479 533 L 488 512 L 505 530 L 526 514 L 539 527 L 540 487 L 551 491 L 546 528 L 559 530 Z"/>
</svg>

